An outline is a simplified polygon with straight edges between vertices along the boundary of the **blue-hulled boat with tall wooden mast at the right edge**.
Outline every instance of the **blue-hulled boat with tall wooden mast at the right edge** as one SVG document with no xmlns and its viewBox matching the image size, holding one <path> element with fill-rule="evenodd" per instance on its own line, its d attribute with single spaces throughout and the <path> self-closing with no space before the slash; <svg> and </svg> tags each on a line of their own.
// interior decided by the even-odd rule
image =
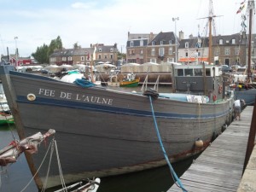
<svg viewBox="0 0 256 192">
<path fill-rule="evenodd" d="M 249 33 L 248 33 L 248 66 L 247 66 L 247 79 L 244 82 L 236 82 L 235 97 L 236 99 L 244 100 L 247 105 L 253 105 L 256 98 L 256 83 L 253 82 L 253 75 L 251 69 L 252 62 L 252 38 L 253 28 L 253 13 L 255 11 L 254 1 L 247 2 L 247 10 L 249 12 Z M 246 19 L 244 15 L 242 18 Z"/>
</svg>

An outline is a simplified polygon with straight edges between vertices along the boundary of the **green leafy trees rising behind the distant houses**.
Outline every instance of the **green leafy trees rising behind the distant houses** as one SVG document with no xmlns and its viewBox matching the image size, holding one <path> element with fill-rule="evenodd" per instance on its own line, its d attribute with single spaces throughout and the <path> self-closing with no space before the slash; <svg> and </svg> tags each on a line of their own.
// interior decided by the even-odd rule
<svg viewBox="0 0 256 192">
<path fill-rule="evenodd" d="M 61 37 L 58 36 L 56 39 L 51 40 L 49 45 L 44 44 L 37 48 L 35 53 L 32 53 L 32 56 L 39 63 L 49 63 L 49 55 L 53 54 L 55 49 L 62 49 Z"/>
</svg>

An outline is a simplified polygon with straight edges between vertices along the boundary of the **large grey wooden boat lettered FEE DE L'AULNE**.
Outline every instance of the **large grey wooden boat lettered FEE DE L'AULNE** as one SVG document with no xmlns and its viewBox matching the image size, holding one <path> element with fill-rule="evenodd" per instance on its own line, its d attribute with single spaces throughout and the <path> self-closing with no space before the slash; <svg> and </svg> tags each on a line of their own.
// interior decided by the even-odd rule
<svg viewBox="0 0 256 192">
<path fill-rule="evenodd" d="M 221 134 L 223 125 L 230 123 L 233 98 L 219 90 L 222 76 L 218 67 L 197 67 L 174 67 L 177 79 L 169 95 L 87 87 L 19 73 L 12 66 L 0 67 L 0 77 L 20 139 L 54 128 L 63 177 L 66 183 L 73 183 L 84 177 L 107 177 L 166 165 L 154 118 L 172 162 L 207 148 Z M 204 79 L 206 84 L 201 83 Z M 198 96 L 182 93 L 185 88 L 196 90 Z M 204 93 L 209 96 L 202 97 Z M 195 144 L 199 139 L 200 146 Z M 27 160 L 32 175 L 44 159 L 46 148 L 41 149 Z M 57 166 L 52 167 L 46 188 L 61 184 Z M 35 179 L 38 189 L 43 188 L 46 177 L 43 170 L 47 165 Z"/>
</svg>

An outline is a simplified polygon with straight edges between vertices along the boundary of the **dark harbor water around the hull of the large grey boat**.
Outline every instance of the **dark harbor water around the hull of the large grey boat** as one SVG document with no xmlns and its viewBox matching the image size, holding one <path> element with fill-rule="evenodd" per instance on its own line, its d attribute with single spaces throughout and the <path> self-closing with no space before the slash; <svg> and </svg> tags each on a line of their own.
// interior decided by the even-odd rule
<svg viewBox="0 0 256 192">
<path fill-rule="evenodd" d="M 141 87 L 136 88 L 111 88 L 111 89 L 124 89 L 125 91 L 137 91 L 140 92 Z M 160 87 L 160 92 L 171 92 L 170 86 Z M 58 134 L 56 132 L 56 134 Z M 7 146 L 14 139 L 19 139 L 17 136 L 15 125 L 1 125 L 0 126 L 0 149 Z M 48 142 L 49 144 L 49 142 Z M 44 143 L 38 147 L 45 148 Z M 37 155 L 37 154 L 33 154 Z M 61 158 L 61 157 L 60 157 Z M 163 155 L 164 158 L 164 155 Z M 194 158 L 183 160 L 178 163 L 172 164 L 177 176 L 181 176 L 185 172 Z M 84 165 L 90 166 L 90 165 Z M 24 154 L 21 154 L 16 163 L 0 167 L 0 192 L 38 192 L 36 184 L 32 179 L 32 174 L 26 163 Z M 87 178 L 84 178 L 87 179 Z M 125 175 L 103 177 L 101 178 L 101 184 L 98 192 L 165 192 L 170 189 L 173 184 L 172 174 L 168 166 L 161 166 L 142 172 L 134 172 Z M 52 192 L 55 189 L 48 189 L 48 192 Z"/>
</svg>

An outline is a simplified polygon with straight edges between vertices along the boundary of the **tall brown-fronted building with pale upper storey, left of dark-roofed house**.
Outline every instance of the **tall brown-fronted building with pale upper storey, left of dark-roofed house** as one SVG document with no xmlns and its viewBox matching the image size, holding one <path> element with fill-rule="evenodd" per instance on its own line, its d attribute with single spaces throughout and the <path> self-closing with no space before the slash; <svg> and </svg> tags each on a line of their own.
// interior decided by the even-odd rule
<svg viewBox="0 0 256 192">
<path fill-rule="evenodd" d="M 147 45 L 156 37 L 153 32 L 130 33 L 126 43 L 126 62 L 143 64 L 147 58 Z"/>
</svg>

